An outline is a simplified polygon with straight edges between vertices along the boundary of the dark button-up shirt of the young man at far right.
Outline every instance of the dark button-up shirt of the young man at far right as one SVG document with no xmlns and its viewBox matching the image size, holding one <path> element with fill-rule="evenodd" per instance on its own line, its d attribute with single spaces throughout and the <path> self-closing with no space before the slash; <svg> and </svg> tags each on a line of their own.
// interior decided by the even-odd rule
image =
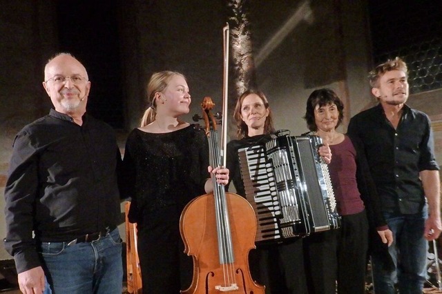
<svg viewBox="0 0 442 294">
<path fill-rule="evenodd" d="M 425 204 L 419 172 L 439 170 L 429 117 L 404 105 L 395 130 L 378 104 L 352 117 L 348 133 L 363 142 L 383 211 L 419 213 Z"/>
</svg>

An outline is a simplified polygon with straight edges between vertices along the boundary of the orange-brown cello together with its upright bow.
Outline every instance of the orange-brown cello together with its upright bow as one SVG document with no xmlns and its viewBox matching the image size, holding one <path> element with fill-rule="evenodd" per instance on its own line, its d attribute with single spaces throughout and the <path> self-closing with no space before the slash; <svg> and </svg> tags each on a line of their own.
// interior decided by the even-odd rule
<svg viewBox="0 0 442 294">
<path fill-rule="evenodd" d="M 224 27 L 224 37 L 228 33 Z M 225 41 L 225 39 L 224 39 Z M 228 42 L 224 42 L 228 43 Z M 225 46 L 224 46 L 225 48 Z M 227 109 L 227 65 L 224 50 L 224 118 Z M 209 140 L 211 166 L 225 166 L 224 150 L 219 150 L 216 123 L 210 97 L 202 102 L 206 135 Z M 223 119 L 223 133 L 227 119 Z M 225 142 L 225 136 L 222 137 Z M 224 143 L 225 149 L 225 143 Z M 184 253 L 193 257 L 191 286 L 181 293 L 264 293 L 251 278 L 249 251 L 256 248 L 256 216 L 253 208 L 240 195 L 226 193 L 224 186 L 212 175 L 213 193 L 196 197 L 186 205 L 180 218 Z"/>
</svg>

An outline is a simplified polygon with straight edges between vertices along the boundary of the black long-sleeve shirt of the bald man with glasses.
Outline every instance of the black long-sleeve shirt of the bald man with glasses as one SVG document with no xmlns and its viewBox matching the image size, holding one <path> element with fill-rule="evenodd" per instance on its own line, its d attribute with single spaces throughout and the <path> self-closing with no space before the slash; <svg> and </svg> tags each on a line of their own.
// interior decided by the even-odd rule
<svg viewBox="0 0 442 294">
<path fill-rule="evenodd" d="M 40 266 L 38 242 L 70 241 L 119 223 L 120 162 L 113 129 L 88 115 L 79 126 L 52 109 L 17 134 L 5 189 L 5 248 L 19 273 Z"/>
</svg>

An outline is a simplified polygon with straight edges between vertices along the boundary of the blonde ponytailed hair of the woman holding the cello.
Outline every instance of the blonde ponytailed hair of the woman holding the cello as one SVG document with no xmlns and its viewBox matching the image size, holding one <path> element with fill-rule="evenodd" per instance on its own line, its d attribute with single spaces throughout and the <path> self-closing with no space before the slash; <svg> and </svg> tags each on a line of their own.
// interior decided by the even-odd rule
<svg viewBox="0 0 442 294">
<path fill-rule="evenodd" d="M 157 116 L 157 102 L 155 101 L 155 93 L 164 91 L 169 86 L 169 81 L 175 75 L 184 77 L 180 72 L 174 72 L 171 70 L 163 70 L 162 72 L 155 72 L 151 79 L 149 79 L 146 92 L 148 107 L 144 111 L 144 115 L 141 119 L 140 127 L 147 126 L 155 121 Z M 184 77 L 186 79 L 186 77 Z"/>
</svg>

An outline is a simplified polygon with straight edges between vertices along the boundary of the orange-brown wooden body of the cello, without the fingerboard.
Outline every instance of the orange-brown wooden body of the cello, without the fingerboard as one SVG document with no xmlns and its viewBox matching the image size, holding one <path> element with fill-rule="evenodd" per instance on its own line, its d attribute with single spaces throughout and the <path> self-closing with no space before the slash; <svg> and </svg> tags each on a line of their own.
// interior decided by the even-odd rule
<svg viewBox="0 0 442 294">
<path fill-rule="evenodd" d="M 193 280 L 186 294 L 202 293 L 264 293 L 264 286 L 256 284 L 249 272 L 249 251 L 256 248 L 256 216 L 246 199 L 233 193 L 225 193 L 229 210 L 233 264 L 220 264 L 215 219 L 215 198 L 206 194 L 193 199 L 184 208 L 180 219 L 180 233 L 184 252 L 193 257 Z M 236 290 L 217 290 L 226 281 L 226 267 L 233 268 Z M 228 286 L 228 285 L 227 285 Z"/>
</svg>

